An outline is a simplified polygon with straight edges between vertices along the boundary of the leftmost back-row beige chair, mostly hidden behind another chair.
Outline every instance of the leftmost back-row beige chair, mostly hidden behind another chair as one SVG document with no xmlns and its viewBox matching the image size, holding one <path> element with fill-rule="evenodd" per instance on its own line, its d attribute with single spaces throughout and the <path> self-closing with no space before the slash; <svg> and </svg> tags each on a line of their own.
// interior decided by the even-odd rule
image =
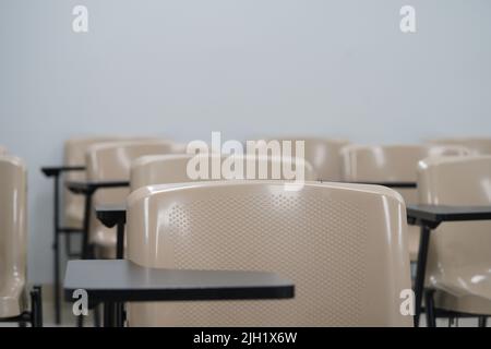
<svg viewBox="0 0 491 349">
<path fill-rule="evenodd" d="M 86 166 L 87 149 L 99 143 L 123 142 L 123 141 L 145 141 L 155 140 L 152 137 L 123 137 L 123 136 L 93 136 L 71 139 L 64 143 L 65 166 Z M 68 171 L 64 173 L 65 181 L 85 181 L 85 171 Z M 64 202 L 64 222 L 68 227 L 81 227 L 84 219 L 84 198 L 81 195 L 73 194 L 68 189 L 63 192 Z"/>
</svg>

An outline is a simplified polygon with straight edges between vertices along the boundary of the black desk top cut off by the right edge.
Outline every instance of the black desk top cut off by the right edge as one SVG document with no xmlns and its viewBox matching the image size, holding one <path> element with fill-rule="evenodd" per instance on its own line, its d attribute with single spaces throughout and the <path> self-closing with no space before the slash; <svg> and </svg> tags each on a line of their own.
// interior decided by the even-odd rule
<svg viewBox="0 0 491 349">
<path fill-rule="evenodd" d="M 490 206 L 408 205 L 407 217 L 432 222 L 491 219 Z"/>
</svg>

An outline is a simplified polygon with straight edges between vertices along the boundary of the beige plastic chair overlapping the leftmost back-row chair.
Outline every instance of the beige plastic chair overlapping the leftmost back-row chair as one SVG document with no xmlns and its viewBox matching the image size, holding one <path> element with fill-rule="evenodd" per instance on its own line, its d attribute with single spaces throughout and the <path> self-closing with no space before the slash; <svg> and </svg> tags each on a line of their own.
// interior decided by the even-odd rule
<svg viewBox="0 0 491 349">
<path fill-rule="evenodd" d="M 180 147 L 178 148 L 180 151 Z M 148 140 L 99 143 L 86 152 L 87 180 L 121 181 L 130 180 L 131 163 L 136 158 L 153 154 L 172 154 L 176 152 L 171 141 Z M 93 207 L 103 204 L 121 204 L 125 201 L 130 188 L 99 189 L 93 197 Z M 89 242 L 97 248 L 101 257 L 115 257 L 116 230 L 106 228 L 94 212 L 91 213 Z"/>
</svg>

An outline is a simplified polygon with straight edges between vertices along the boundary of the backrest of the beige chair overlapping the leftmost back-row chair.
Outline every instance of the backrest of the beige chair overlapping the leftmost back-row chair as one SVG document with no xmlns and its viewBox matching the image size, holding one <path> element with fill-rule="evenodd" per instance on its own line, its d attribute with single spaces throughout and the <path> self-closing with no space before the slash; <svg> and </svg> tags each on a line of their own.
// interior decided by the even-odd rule
<svg viewBox="0 0 491 349">
<path fill-rule="evenodd" d="M 139 157 L 154 154 L 172 154 L 176 151 L 171 141 L 123 141 L 99 143 L 88 147 L 86 153 L 87 179 L 92 181 L 130 180 L 131 163 Z M 93 204 L 121 204 L 130 188 L 99 189 L 94 194 Z M 101 224 L 92 213 L 91 231 Z"/>
</svg>

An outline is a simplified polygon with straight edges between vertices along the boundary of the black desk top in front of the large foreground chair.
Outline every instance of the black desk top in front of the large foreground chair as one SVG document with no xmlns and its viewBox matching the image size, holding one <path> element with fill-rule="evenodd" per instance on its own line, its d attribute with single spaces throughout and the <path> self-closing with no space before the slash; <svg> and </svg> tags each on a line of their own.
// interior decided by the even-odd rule
<svg viewBox="0 0 491 349">
<path fill-rule="evenodd" d="M 127 260 L 70 261 L 68 300 L 85 289 L 89 302 L 182 301 L 294 298 L 295 286 L 274 273 L 157 269 Z"/>
</svg>

